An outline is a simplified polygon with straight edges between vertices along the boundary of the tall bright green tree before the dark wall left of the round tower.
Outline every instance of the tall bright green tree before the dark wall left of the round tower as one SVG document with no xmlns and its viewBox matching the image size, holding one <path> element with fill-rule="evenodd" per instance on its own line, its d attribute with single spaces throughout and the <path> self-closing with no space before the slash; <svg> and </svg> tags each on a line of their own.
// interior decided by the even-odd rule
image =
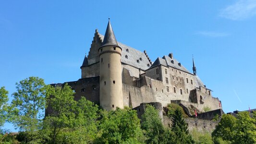
<svg viewBox="0 0 256 144">
<path fill-rule="evenodd" d="M 66 83 L 63 87 L 47 87 L 47 107 L 50 108 L 44 120 L 42 132 L 51 143 L 56 143 L 56 138 L 62 129 L 72 128 L 75 125 L 75 108 L 77 102 L 73 99 L 74 92 Z M 49 136 L 49 137 L 47 137 Z"/>
</svg>

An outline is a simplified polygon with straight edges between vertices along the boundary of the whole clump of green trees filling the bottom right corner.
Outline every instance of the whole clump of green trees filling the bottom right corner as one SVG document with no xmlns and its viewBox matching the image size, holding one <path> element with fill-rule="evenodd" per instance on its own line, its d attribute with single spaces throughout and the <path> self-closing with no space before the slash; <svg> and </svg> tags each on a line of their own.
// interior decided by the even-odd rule
<svg viewBox="0 0 256 144">
<path fill-rule="evenodd" d="M 255 144 L 256 121 L 247 111 L 239 112 L 237 118 L 232 115 L 222 115 L 219 124 L 212 132 L 216 144 Z"/>
</svg>

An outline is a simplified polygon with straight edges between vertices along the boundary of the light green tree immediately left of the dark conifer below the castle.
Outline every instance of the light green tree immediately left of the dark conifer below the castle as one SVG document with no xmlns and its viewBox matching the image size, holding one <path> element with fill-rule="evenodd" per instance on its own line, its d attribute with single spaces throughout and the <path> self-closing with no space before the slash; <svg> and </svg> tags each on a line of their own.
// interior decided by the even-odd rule
<svg viewBox="0 0 256 144">
<path fill-rule="evenodd" d="M 173 143 L 173 132 L 165 129 L 159 117 L 159 111 L 151 105 L 146 105 L 142 115 L 142 129 L 145 130 L 147 144 Z"/>
</svg>

